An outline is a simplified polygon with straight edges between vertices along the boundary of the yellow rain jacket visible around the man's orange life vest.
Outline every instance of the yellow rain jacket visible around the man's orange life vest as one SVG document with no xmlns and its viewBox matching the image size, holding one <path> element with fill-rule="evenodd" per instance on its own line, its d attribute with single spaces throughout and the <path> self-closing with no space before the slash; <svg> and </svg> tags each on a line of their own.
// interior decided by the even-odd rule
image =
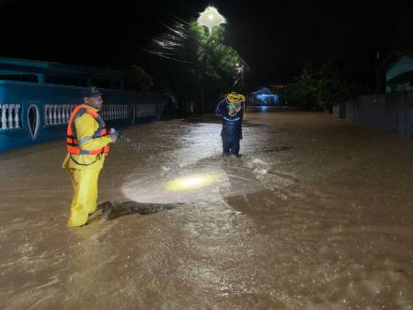
<svg viewBox="0 0 413 310">
<path fill-rule="evenodd" d="M 98 112 L 87 105 L 87 108 Z M 92 151 L 94 149 L 100 149 L 105 147 L 108 143 L 112 141 L 110 136 L 100 136 L 92 138 L 94 133 L 99 129 L 98 122 L 93 118 L 93 116 L 85 113 L 82 116 L 79 116 L 74 121 L 74 126 L 76 127 L 76 139 L 77 141 L 85 141 L 81 143 L 81 149 L 86 151 Z M 65 160 L 63 161 L 62 168 L 70 169 L 102 169 L 103 163 L 105 162 L 105 154 L 99 155 L 76 155 L 72 154 L 72 160 L 70 154 L 67 154 Z M 78 165 L 76 162 L 83 164 Z"/>
</svg>

